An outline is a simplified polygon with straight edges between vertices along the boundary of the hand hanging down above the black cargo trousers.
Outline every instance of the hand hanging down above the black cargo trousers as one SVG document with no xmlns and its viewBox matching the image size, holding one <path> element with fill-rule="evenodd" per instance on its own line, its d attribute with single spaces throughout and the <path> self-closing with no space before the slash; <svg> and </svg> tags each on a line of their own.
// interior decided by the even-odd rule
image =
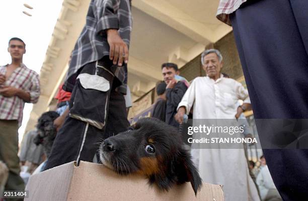
<svg viewBox="0 0 308 201">
<path fill-rule="evenodd" d="M 109 29 L 107 32 L 107 41 L 110 47 L 109 59 L 113 60 L 113 64 L 122 66 L 123 60 L 125 64 L 128 62 L 128 47 L 121 39 L 119 33 L 115 29 Z"/>
</svg>

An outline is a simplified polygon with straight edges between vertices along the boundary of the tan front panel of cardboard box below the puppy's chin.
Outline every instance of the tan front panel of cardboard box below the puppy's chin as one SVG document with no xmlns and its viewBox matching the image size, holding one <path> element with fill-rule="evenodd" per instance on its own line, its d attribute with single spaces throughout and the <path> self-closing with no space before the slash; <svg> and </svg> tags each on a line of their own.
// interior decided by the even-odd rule
<svg viewBox="0 0 308 201">
<path fill-rule="evenodd" d="M 94 177 L 93 177 L 94 176 Z M 96 177 L 99 176 L 99 177 Z M 89 180 L 90 179 L 90 180 Z M 107 180 L 106 180 L 107 179 Z M 110 189 L 106 186 L 110 180 L 119 183 L 119 186 Z M 94 183 L 93 181 L 96 180 Z M 102 182 L 104 180 L 104 182 Z M 109 181 L 108 181 L 109 180 Z M 80 185 L 83 183 L 83 185 Z M 128 184 L 125 185 L 124 183 Z M 94 185 L 93 185 L 94 184 Z M 100 186 L 105 185 L 105 187 Z M 84 188 L 83 186 L 87 186 Z M 129 185 L 136 185 L 133 190 Z M 97 187 L 95 187 L 97 186 Z M 138 187 L 137 187 L 138 186 Z M 132 190 L 132 191 L 131 191 Z M 143 197 L 144 194 L 148 195 Z M 141 197 L 140 197 L 141 195 Z M 119 176 L 114 171 L 102 164 L 95 164 L 81 161 L 80 166 L 74 166 L 74 173 L 71 179 L 67 200 L 206 200 L 224 201 L 224 193 L 221 185 L 203 183 L 201 191 L 195 197 L 189 182 L 182 185 L 175 185 L 168 193 L 159 192 L 155 187 L 147 184 L 147 179 L 140 175 Z"/>
</svg>

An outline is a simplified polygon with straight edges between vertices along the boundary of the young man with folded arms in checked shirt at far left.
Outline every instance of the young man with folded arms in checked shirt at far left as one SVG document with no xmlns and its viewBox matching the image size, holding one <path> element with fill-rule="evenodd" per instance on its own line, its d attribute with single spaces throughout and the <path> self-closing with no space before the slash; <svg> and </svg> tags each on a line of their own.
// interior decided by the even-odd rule
<svg viewBox="0 0 308 201">
<path fill-rule="evenodd" d="M 0 160 L 8 166 L 6 190 L 24 190 L 19 176 L 18 128 L 25 102 L 36 103 L 40 96 L 38 74 L 23 64 L 26 45 L 19 38 L 9 41 L 12 63 L 0 67 Z"/>
</svg>

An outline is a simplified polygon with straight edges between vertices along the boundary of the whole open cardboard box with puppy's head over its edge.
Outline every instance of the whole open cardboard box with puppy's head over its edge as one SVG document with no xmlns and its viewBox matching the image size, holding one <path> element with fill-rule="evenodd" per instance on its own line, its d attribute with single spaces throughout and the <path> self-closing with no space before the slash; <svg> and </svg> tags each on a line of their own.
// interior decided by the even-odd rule
<svg viewBox="0 0 308 201">
<path fill-rule="evenodd" d="M 140 175 L 118 175 L 102 164 L 69 162 L 30 177 L 25 200 L 134 200 L 134 201 L 223 201 L 220 185 L 203 183 L 197 197 L 189 182 L 174 185 L 168 192 L 150 187 Z"/>
</svg>

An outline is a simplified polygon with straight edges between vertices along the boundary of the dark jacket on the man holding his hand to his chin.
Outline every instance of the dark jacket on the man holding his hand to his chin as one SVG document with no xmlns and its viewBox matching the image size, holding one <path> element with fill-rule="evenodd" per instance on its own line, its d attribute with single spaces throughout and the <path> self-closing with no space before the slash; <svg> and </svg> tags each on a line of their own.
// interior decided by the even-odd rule
<svg viewBox="0 0 308 201">
<path fill-rule="evenodd" d="M 175 120 L 174 116 L 186 90 L 187 87 L 183 82 L 178 82 L 173 89 L 166 89 L 167 106 L 165 122 L 177 128 L 179 123 Z"/>
</svg>

